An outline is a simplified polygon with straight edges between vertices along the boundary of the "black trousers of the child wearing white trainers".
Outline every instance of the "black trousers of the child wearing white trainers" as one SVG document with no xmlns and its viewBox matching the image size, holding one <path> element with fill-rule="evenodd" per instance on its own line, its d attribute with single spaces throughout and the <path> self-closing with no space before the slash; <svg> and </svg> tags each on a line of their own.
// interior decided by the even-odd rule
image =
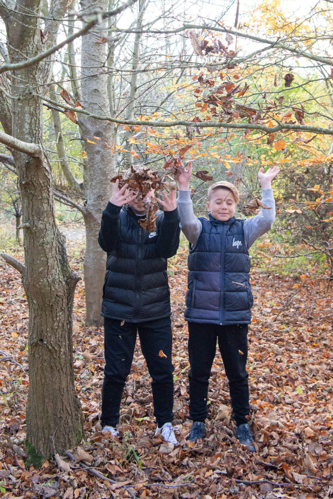
<svg viewBox="0 0 333 499">
<path fill-rule="evenodd" d="M 171 361 L 172 332 L 170 317 L 147 322 L 125 322 L 104 319 L 105 368 L 102 387 L 102 425 L 119 423 L 120 404 L 127 376 L 130 374 L 139 332 L 142 353 L 150 376 L 154 415 L 161 427 L 173 420 L 173 365 Z M 163 350 L 166 357 L 160 357 Z"/>
</svg>

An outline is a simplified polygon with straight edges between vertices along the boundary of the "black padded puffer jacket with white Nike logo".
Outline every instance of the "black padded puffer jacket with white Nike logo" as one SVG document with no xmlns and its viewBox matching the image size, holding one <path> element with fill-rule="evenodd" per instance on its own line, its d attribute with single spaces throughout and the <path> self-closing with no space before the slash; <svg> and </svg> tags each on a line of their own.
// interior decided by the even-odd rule
<svg viewBox="0 0 333 499">
<path fill-rule="evenodd" d="M 171 313 L 167 258 L 179 245 L 179 216 L 157 212 L 156 232 L 147 233 L 129 207 L 108 203 L 98 242 L 108 253 L 102 315 L 127 322 L 168 317 Z"/>
</svg>

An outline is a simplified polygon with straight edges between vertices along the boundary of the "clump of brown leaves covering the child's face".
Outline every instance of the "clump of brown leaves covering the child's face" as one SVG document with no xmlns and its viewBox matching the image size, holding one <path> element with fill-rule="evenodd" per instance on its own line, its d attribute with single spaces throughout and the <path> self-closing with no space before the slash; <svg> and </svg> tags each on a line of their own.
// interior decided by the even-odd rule
<svg viewBox="0 0 333 499">
<path fill-rule="evenodd" d="M 119 180 L 120 188 L 128 184 L 129 191 L 138 191 L 138 204 L 146 209 L 146 217 L 140 218 L 139 224 L 145 231 L 155 232 L 156 212 L 158 211 L 157 201 L 153 196 L 147 201 L 145 201 L 145 198 L 151 190 L 156 192 L 166 187 L 175 189 L 175 183 L 163 182 L 158 172 L 154 172 L 144 165 L 131 166 L 128 170 L 121 171 L 117 177 L 111 179 L 111 182 L 116 182 L 116 180 Z"/>
</svg>

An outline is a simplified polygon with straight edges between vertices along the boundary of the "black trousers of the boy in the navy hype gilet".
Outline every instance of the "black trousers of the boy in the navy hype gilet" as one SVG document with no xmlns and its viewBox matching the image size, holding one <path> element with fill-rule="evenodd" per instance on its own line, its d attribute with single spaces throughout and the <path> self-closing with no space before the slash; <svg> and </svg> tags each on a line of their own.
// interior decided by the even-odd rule
<svg viewBox="0 0 333 499">
<path fill-rule="evenodd" d="M 208 384 L 216 353 L 216 340 L 229 381 L 231 408 L 236 425 L 248 423 L 250 414 L 246 324 L 188 323 L 188 355 L 190 363 L 189 415 L 193 421 L 204 422 L 208 414 Z M 239 350 L 243 353 L 240 354 Z"/>
</svg>

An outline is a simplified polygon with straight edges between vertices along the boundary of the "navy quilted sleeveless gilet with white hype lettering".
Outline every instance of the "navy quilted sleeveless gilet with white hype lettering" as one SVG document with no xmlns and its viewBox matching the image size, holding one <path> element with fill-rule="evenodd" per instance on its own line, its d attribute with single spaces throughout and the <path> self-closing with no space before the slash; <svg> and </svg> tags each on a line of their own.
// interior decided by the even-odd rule
<svg viewBox="0 0 333 499">
<path fill-rule="evenodd" d="M 202 231 L 189 245 L 185 320 L 210 324 L 250 324 L 253 297 L 245 220 L 200 217 Z M 237 283 L 237 284 L 236 284 Z"/>
</svg>

